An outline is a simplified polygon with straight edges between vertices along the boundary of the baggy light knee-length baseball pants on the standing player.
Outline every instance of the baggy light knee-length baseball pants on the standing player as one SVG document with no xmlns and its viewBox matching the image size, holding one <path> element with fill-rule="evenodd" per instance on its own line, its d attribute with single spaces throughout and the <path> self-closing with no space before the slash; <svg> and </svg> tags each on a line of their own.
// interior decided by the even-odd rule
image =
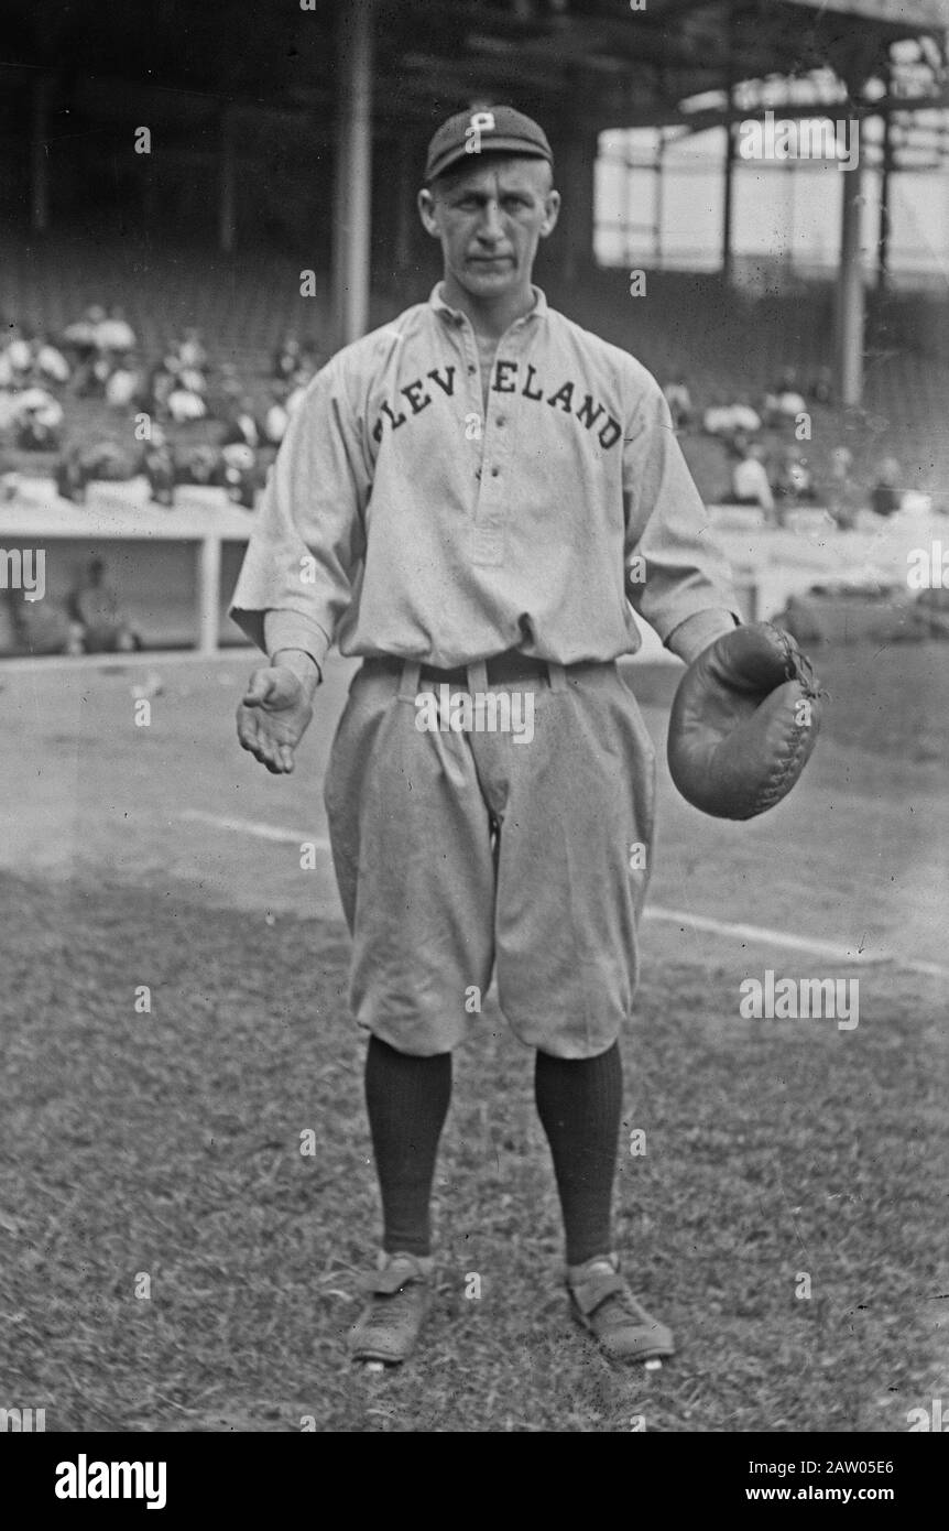
<svg viewBox="0 0 949 1531">
<path fill-rule="evenodd" d="M 456 730 L 459 692 L 507 692 L 531 729 L 491 729 L 496 703 L 484 732 Z M 505 655 L 459 674 L 367 658 L 324 801 L 361 1027 L 404 1053 L 450 1052 L 496 974 L 525 1046 L 612 1046 L 637 984 L 655 808 L 655 752 L 615 663 Z"/>
</svg>

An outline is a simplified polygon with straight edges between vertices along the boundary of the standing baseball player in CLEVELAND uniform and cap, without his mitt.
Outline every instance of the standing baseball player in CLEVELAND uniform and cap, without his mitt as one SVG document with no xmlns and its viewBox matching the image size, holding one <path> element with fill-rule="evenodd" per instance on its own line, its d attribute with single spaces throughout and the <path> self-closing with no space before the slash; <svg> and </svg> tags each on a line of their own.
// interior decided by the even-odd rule
<svg viewBox="0 0 949 1531">
<path fill-rule="evenodd" d="M 452 1050 L 494 975 L 536 1053 L 572 1312 L 646 1361 L 672 1334 L 620 1269 L 611 1202 L 654 749 L 617 658 L 634 612 L 687 663 L 745 629 L 658 384 L 531 285 L 560 208 L 543 130 L 452 116 L 418 207 L 444 277 L 311 383 L 231 611 L 269 657 L 237 732 L 271 772 L 331 643 L 363 660 L 326 778 L 384 1219 L 351 1347 L 395 1364 L 416 1343 Z"/>
</svg>

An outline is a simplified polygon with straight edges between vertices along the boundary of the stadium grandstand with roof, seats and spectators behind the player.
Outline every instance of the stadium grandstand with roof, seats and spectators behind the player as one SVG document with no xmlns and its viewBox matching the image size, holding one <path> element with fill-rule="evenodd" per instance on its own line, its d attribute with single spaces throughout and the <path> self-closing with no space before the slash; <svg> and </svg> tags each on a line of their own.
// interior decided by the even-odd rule
<svg viewBox="0 0 949 1531">
<path fill-rule="evenodd" d="M 947 28 L 944 0 L 8 0 L 0 312 L 8 352 L 29 357 L 0 378 L 5 548 L 55 539 L 61 602 L 77 559 L 106 556 L 148 646 L 193 643 L 196 603 L 205 648 L 237 641 L 228 580 L 294 387 L 430 291 L 426 142 L 448 112 L 501 101 L 550 127 L 569 210 L 539 280 L 663 384 L 687 380 L 683 447 L 707 504 L 729 504 L 735 458 L 707 410 L 753 406 L 771 458 L 801 444 L 762 403 L 784 377 L 810 421 L 793 508 L 822 513 L 825 540 L 869 525 L 880 464 L 897 465 L 885 488 L 944 513 L 949 214 L 925 282 L 894 256 L 897 188 L 946 168 Z M 863 133 L 846 173 L 828 150 L 833 269 L 796 268 L 784 234 L 741 248 L 758 196 L 741 130 L 776 112 Z M 700 141 L 721 162 L 706 167 L 713 239 L 689 269 L 663 248 L 663 176 L 667 191 L 673 152 Z M 89 322 L 132 337 L 103 348 L 101 374 L 95 346 L 67 338 Z M 41 344 L 67 375 L 37 374 Z M 174 389 L 182 371 L 201 409 L 168 409 L 156 378 Z M 40 404 L 18 412 L 29 389 L 52 398 L 46 433 Z M 145 462 L 152 424 L 164 467 Z M 759 542 L 771 530 L 793 534 L 793 516 Z M 14 629 L 0 652 L 40 652 Z"/>
</svg>

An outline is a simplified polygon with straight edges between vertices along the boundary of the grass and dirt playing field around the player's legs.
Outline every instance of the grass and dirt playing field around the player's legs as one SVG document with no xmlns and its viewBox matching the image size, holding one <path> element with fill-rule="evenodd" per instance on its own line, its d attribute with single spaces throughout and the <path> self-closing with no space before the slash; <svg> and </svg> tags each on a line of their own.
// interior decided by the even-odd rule
<svg viewBox="0 0 949 1531">
<path fill-rule="evenodd" d="M 701 819 L 663 775 L 623 1038 L 647 1151 L 617 1199 L 680 1343 L 657 1373 L 571 1327 L 531 1058 L 491 1000 L 456 1056 L 426 1344 L 352 1372 L 378 1206 L 318 801 L 349 668 L 289 781 L 233 743 L 246 668 L 156 660 L 148 727 L 141 666 L 0 672 L 0 1405 L 66 1431 L 902 1431 L 946 1396 L 944 651 L 823 658 L 827 735 L 762 821 Z M 657 739 L 673 678 L 632 677 Z M 859 975 L 859 1026 L 741 1020 L 767 966 Z"/>
</svg>

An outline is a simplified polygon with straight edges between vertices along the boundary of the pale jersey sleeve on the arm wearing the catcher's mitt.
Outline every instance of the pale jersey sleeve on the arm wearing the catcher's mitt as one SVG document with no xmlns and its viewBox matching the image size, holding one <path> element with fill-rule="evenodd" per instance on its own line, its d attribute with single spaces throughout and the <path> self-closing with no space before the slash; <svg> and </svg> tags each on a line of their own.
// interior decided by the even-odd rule
<svg viewBox="0 0 949 1531">
<path fill-rule="evenodd" d="M 727 560 L 651 378 L 623 442 L 626 592 L 663 643 L 690 617 L 739 619 Z"/>
</svg>

